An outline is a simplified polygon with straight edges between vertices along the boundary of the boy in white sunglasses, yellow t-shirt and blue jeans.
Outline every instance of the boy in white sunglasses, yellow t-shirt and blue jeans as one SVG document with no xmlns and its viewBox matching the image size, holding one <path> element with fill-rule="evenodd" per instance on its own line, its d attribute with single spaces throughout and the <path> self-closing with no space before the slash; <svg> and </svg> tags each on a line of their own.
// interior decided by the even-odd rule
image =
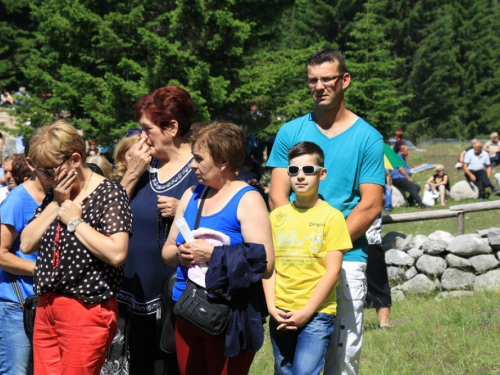
<svg viewBox="0 0 500 375">
<path fill-rule="evenodd" d="M 352 243 L 342 213 L 318 197 L 327 172 L 321 148 L 297 143 L 288 162 L 296 200 L 271 212 L 276 258 L 266 300 L 274 368 L 278 375 L 319 374 L 333 332 L 343 252 Z"/>
</svg>

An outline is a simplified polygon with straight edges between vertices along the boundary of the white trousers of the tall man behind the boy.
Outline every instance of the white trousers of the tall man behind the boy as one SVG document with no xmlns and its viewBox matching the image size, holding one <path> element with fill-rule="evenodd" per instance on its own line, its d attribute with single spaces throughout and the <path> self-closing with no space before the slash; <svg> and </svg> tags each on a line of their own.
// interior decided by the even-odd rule
<svg viewBox="0 0 500 375">
<path fill-rule="evenodd" d="M 324 375 L 356 375 L 359 372 L 365 297 L 366 263 L 342 262 L 335 329 L 326 352 Z"/>
</svg>

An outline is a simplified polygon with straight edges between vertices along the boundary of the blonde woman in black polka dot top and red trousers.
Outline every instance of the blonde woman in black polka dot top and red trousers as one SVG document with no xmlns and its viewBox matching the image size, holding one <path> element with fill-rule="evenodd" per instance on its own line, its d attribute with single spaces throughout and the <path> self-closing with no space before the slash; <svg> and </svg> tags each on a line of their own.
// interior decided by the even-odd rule
<svg viewBox="0 0 500 375">
<path fill-rule="evenodd" d="M 116 333 L 116 294 L 132 225 L 125 189 L 93 173 L 76 129 L 56 121 L 30 141 L 27 162 L 52 182 L 21 249 L 39 251 L 33 336 L 36 374 L 99 374 Z"/>
</svg>

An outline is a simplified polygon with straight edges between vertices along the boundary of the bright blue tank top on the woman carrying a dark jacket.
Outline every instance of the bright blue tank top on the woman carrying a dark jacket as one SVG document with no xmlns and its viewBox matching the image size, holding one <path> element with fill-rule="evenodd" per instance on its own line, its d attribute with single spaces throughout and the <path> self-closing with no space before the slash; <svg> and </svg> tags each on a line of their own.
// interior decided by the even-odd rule
<svg viewBox="0 0 500 375">
<path fill-rule="evenodd" d="M 188 223 L 191 230 L 194 230 L 194 224 L 196 221 L 196 215 L 198 214 L 198 204 L 201 199 L 201 195 L 205 185 L 199 184 L 193 192 L 191 199 L 189 200 L 186 210 L 184 211 L 184 219 Z M 241 225 L 238 221 L 238 205 L 243 195 L 252 190 L 257 190 L 254 187 L 248 185 L 241 188 L 231 200 L 224 206 L 219 212 L 200 217 L 199 228 L 208 228 L 224 233 L 231 239 L 231 245 L 237 245 L 243 242 L 243 237 L 241 236 Z M 177 235 L 177 244 L 183 243 L 184 237 L 179 232 Z M 175 286 L 172 292 L 172 299 L 177 301 L 181 296 L 184 289 L 186 289 L 187 280 L 187 268 L 179 265 L 177 267 L 177 277 L 175 281 Z"/>
</svg>

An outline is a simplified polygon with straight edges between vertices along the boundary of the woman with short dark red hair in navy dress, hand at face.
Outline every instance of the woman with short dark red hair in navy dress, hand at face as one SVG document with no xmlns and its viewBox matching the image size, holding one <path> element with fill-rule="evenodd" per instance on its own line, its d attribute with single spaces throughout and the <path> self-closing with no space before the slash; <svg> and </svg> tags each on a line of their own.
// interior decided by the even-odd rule
<svg viewBox="0 0 500 375">
<path fill-rule="evenodd" d="M 175 355 L 158 348 L 156 309 L 163 286 L 175 271 L 163 263 L 161 249 L 179 199 L 198 181 L 190 168 L 191 148 L 184 139 L 195 108 L 189 93 L 176 86 L 144 95 L 135 105 L 134 117 L 142 133 L 130 148 L 121 180 L 134 215 L 133 236 L 118 296 L 120 315 L 125 318 L 121 322 L 130 328 L 130 337 L 125 340 L 128 348 L 123 348 L 129 350 L 130 374 L 176 372 Z M 121 366 L 127 364 L 122 362 Z"/>
</svg>

